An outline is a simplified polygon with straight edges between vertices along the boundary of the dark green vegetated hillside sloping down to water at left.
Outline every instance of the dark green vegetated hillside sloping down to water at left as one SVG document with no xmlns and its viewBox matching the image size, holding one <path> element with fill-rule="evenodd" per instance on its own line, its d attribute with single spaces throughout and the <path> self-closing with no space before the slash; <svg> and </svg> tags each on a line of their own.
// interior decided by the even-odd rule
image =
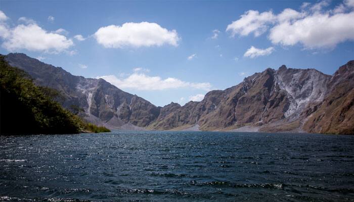
<svg viewBox="0 0 354 202">
<path fill-rule="evenodd" d="M 31 77 L 0 56 L 0 133 L 64 134 L 109 131 L 62 108 L 57 90 L 36 86 Z"/>
</svg>

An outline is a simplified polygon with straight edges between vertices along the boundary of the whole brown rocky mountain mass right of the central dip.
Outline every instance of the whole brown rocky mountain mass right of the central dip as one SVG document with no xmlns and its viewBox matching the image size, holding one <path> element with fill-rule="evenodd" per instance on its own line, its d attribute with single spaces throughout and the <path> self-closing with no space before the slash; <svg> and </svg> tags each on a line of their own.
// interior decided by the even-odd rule
<svg viewBox="0 0 354 202">
<path fill-rule="evenodd" d="M 201 102 L 167 105 L 161 112 L 166 110 L 168 116 L 160 114 L 150 127 L 166 130 L 197 125 L 201 130 L 253 127 L 265 132 L 352 134 L 353 63 L 348 62 L 333 76 L 284 65 L 267 69 L 226 90 L 210 91 Z"/>
</svg>

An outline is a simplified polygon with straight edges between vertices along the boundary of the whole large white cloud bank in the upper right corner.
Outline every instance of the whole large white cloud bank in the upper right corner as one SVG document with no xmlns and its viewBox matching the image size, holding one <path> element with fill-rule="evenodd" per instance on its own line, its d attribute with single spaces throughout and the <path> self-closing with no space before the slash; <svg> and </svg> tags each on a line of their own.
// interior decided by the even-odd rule
<svg viewBox="0 0 354 202">
<path fill-rule="evenodd" d="M 247 11 L 232 22 L 227 31 L 232 36 L 259 36 L 269 30 L 273 44 L 284 46 L 302 44 L 304 48 L 333 48 L 338 43 L 354 40 L 354 0 L 345 0 L 333 10 L 327 10 L 329 1 L 311 5 L 304 3 L 301 11 L 284 9 L 275 15 L 272 11 Z"/>
</svg>

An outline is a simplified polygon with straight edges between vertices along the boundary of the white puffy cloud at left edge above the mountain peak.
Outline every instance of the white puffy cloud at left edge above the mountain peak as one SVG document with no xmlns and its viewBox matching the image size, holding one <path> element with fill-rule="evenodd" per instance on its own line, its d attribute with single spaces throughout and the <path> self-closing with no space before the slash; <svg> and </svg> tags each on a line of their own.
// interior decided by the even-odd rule
<svg viewBox="0 0 354 202">
<path fill-rule="evenodd" d="M 28 51 L 60 53 L 74 44 L 64 35 L 48 32 L 37 24 L 21 24 L 14 28 L 0 25 L 0 37 L 4 39 L 2 46 L 8 51 L 27 49 Z"/>
</svg>

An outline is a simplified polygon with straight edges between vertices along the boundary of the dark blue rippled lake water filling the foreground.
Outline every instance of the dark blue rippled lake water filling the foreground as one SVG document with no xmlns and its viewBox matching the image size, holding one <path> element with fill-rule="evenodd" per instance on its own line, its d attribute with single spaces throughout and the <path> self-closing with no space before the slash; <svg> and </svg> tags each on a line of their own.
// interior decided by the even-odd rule
<svg viewBox="0 0 354 202">
<path fill-rule="evenodd" d="M 354 200 L 354 136 L 0 136 L 0 201 Z"/>
</svg>

